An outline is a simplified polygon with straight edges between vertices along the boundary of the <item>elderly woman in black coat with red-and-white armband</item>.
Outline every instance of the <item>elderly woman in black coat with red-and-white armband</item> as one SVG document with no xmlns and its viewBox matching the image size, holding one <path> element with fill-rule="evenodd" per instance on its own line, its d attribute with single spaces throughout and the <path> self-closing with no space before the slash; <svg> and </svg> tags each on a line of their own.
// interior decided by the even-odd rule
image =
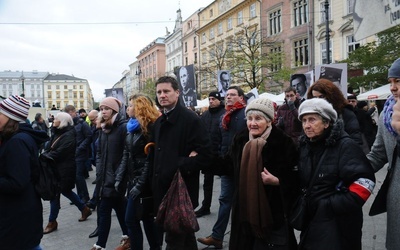
<svg viewBox="0 0 400 250">
<path fill-rule="evenodd" d="M 313 215 L 300 228 L 293 224 L 302 230 L 299 249 L 361 250 L 362 206 L 374 189 L 374 170 L 329 102 L 305 100 L 299 119 L 304 134 L 299 138 L 297 193 L 308 204 L 305 214 Z M 301 203 L 294 211 L 297 206 Z"/>
</svg>

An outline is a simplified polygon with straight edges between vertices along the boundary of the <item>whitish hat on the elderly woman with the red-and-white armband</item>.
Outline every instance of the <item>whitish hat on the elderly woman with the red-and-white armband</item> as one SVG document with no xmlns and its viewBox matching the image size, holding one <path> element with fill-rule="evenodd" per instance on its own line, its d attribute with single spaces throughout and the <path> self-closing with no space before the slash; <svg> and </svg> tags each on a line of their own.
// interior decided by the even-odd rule
<svg viewBox="0 0 400 250">
<path fill-rule="evenodd" d="M 321 98 L 305 100 L 299 107 L 299 120 L 306 114 L 318 114 L 330 121 L 336 121 L 337 113 L 332 104 Z"/>
</svg>

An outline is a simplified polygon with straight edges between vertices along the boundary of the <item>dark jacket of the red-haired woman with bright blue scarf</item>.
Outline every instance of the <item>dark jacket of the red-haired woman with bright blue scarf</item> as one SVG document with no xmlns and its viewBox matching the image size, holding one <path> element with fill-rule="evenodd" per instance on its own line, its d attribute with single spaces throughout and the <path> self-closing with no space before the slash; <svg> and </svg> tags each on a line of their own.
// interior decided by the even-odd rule
<svg viewBox="0 0 400 250">
<path fill-rule="evenodd" d="M 149 141 L 149 137 L 144 136 L 140 128 L 132 133 L 128 132 L 121 166 L 116 177 L 117 181 L 123 181 L 127 176 L 129 188 L 137 189 L 140 197 L 152 195 L 149 179 L 150 163 L 144 153 L 144 147 Z"/>
</svg>

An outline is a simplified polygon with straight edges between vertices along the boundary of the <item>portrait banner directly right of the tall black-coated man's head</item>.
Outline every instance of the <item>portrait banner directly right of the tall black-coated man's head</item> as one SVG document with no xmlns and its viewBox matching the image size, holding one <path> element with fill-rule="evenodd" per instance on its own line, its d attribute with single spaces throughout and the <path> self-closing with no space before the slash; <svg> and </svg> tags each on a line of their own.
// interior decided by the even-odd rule
<svg viewBox="0 0 400 250">
<path fill-rule="evenodd" d="M 196 78 L 193 64 L 177 68 L 174 73 L 179 82 L 181 104 L 192 108 L 197 106 Z"/>
</svg>

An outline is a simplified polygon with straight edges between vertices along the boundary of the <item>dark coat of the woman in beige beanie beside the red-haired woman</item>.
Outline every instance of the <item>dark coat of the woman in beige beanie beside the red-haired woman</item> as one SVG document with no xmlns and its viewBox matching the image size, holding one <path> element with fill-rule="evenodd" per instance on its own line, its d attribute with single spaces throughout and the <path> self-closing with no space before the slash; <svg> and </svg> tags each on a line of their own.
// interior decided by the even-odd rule
<svg viewBox="0 0 400 250">
<path fill-rule="evenodd" d="M 122 155 L 126 137 L 126 121 L 119 114 L 111 131 L 100 131 L 96 155 L 96 190 L 99 198 L 124 196 L 126 182 L 121 181 L 118 192 L 115 190 L 117 173 L 121 170 Z M 122 178 L 124 179 L 124 177 Z"/>
</svg>

